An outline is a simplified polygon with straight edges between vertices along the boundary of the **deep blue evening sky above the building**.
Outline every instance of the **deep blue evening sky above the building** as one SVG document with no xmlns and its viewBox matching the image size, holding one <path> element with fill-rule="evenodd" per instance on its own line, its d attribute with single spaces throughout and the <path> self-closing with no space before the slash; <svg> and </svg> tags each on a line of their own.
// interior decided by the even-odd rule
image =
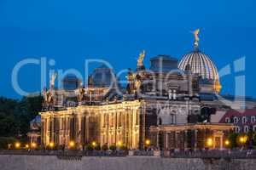
<svg viewBox="0 0 256 170">
<path fill-rule="evenodd" d="M 84 69 L 84 59 L 108 59 L 115 71 L 145 64 L 157 54 L 180 59 L 192 50 L 190 31 L 201 28 L 200 48 L 218 69 L 246 56 L 246 71 L 221 77 L 222 93 L 234 94 L 246 75 L 246 94 L 256 97 L 256 3 L 215 1 L 0 0 L 0 95 L 19 98 L 11 72 L 27 57 L 55 59 L 51 69 Z M 38 65 L 20 71 L 21 88 L 40 90 Z"/>
</svg>

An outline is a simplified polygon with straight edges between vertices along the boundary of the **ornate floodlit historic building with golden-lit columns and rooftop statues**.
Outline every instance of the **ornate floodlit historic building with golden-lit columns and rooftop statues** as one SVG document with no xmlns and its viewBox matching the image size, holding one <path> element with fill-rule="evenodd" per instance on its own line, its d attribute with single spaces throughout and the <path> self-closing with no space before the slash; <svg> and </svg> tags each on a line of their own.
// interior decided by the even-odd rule
<svg viewBox="0 0 256 170">
<path fill-rule="evenodd" d="M 196 44 L 195 52 L 185 55 L 179 65 L 175 58 L 158 55 L 150 59 L 149 69 L 143 65 L 143 51 L 136 71 L 128 70 L 126 88 L 106 65 L 93 71 L 85 87 L 72 77 L 63 81 L 71 85 L 56 89 L 54 74 L 49 90 L 44 90 L 44 109 L 40 113 L 42 144 L 67 146 L 73 141 L 82 148 L 95 142 L 143 149 L 145 141 L 151 139 L 154 146 L 170 149 L 176 148 L 175 144 L 187 134 L 184 132 L 198 131 L 195 135 L 200 136 L 201 130 L 209 130 L 218 135 L 219 139 L 214 137 L 213 141 L 222 148 L 230 124 L 197 125 L 210 123 L 211 115 L 224 105 L 217 97 L 221 88 L 218 71 Z M 172 133 L 180 138 L 173 139 Z M 183 148 L 188 147 L 185 144 L 199 144 L 200 139 L 193 144 L 183 139 Z"/>
</svg>

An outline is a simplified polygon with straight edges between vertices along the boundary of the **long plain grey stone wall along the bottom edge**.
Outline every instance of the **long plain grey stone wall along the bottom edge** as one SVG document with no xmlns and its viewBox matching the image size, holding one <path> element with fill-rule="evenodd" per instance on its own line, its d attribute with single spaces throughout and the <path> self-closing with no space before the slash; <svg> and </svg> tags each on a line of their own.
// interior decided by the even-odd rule
<svg viewBox="0 0 256 170">
<path fill-rule="evenodd" d="M 1 170 L 205 170 L 255 169 L 256 159 L 185 159 L 154 156 L 82 157 L 78 160 L 59 159 L 57 156 L 0 155 Z"/>
</svg>

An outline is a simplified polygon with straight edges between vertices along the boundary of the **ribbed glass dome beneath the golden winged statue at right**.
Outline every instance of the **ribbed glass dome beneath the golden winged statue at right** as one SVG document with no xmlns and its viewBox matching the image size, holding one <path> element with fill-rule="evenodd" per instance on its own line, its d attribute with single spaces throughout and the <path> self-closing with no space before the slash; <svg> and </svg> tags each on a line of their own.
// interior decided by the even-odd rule
<svg viewBox="0 0 256 170">
<path fill-rule="evenodd" d="M 183 55 L 178 68 L 185 71 L 189 65 L 191 72 L 199 74 L 202 79 L 218 80 L 218 70 L 207 54 L 203 54 L 198 48 L 189 54 Z"/>
</svg>

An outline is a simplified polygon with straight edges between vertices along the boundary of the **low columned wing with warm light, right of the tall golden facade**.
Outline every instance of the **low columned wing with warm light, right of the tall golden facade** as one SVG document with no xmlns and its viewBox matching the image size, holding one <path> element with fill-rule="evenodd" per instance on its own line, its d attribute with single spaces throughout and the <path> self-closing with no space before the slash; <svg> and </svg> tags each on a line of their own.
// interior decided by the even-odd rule
<svg viewBox="0 0 256 170">
<path fill-rule="evenodd" d="M 232 130 L 224 123 L 167 125 L 150 127 L 150 139 L 160 150 L 222 150 Z"/>
</svg>

